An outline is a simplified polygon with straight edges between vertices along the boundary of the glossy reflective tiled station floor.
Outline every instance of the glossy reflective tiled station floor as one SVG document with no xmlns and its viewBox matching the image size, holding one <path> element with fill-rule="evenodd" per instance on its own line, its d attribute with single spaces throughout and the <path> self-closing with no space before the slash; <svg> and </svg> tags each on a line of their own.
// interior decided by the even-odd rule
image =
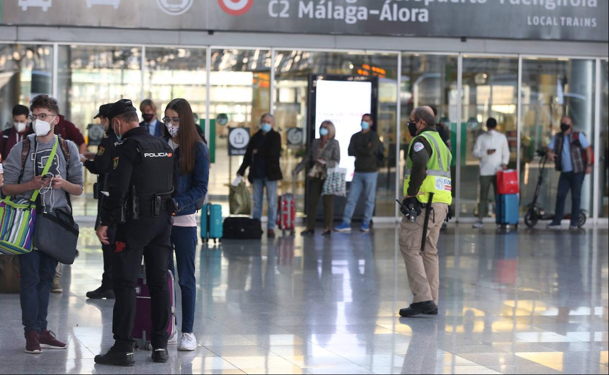
<svg viewBox="0 0 609 375">
<path fill-rule="evenodd" d="M 161 365 L 137 351 L 125 369 L 93 363 L 112 343 L 113 301 L 85 298 L 102 264 L 85 229 L 49 308 L 69 349 L 24 354 L 18 295 L 0 295 L 0 373 L 607 374 L 608 236 L 451 228 L 440 314 L 410 319 L 396 314 L 410 292 L 393 227 L 227 241 L 197 253 L 199 349 L 170 347 Z"/>
</svg>

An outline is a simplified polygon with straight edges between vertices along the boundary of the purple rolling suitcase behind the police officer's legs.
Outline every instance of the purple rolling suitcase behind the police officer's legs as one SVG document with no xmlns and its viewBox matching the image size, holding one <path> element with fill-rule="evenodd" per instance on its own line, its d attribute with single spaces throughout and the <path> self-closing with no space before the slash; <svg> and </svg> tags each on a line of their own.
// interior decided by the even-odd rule
<svg viewBox="0 0 609 375">
<path fill-rule="evenodd" d="M 167 334 L 169 337 L 176 334 L 175 329 L 175 284 L 174 274 L 169 271 L 167 278 L 169 283 L 169 298 L 171 303 L 171 319 Z M 150 331 L 152 329 L 152 320 L 150 318 L 150 291 L 146 283 L 146 270 L 142 266 L 138 277 L 138 284 L 135 287 L 136 307 L 135 307 L 135 322 L 133 324 L 133 340 L 137 348 L 150 350 Z"/>
</svg>

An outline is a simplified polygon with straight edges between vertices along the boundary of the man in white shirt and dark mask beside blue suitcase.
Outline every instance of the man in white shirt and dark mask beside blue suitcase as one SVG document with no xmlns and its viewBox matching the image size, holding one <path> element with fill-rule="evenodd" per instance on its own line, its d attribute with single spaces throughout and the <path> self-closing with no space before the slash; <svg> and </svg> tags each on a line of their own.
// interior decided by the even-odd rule
<svg viewBox="0 0 609 375">
<path fill-rule="evenodd" d="M 480 203 L 478 206 L 478 221 L 474 228 L 482 228 L 482 218 L 488 215 L 488 188 L 493 185 L 497 194 L 497 171 L 506 170 L 510 162 L 510 148 L 507 138 L 496 130 L 497 120 L 490 117 L 487 120 L 488 131 L 480 134 L 474 145 L 473 156 L 480 159 Z"/>
</svg>

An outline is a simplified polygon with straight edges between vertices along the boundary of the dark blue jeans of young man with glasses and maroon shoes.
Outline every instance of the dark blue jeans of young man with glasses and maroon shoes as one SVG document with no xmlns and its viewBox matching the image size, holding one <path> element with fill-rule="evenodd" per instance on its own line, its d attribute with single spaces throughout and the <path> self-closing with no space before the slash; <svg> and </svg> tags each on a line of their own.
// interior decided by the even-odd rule
<svg viewBox="0 0 609 375">
<path fill-rule="evenodd" d="M 51 284 L 55 277 L 57 261 L 40 250 L 19 255 L 21 267 L 21 320 L 24 331 L 37 331 L 46 329 L 46 315 L 49 311 L 49 295 Z"/>
</svg>

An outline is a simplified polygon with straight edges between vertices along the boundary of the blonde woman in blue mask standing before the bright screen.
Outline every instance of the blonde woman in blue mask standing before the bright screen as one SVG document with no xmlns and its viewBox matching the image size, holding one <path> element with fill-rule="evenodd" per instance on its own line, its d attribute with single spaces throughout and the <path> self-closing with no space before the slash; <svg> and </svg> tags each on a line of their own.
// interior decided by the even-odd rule
<svg viewBox="0 0 609 375">
<path fill-rule="evenodd" d="M 317 203 L 319 196 L 322 195 L 323 184 L 328 176 L 328 168 L 336 167 L 340 162 L 340 145 L 339 141 L 334 139 L 336 136 L 336 128 L 334 124 L 325 120 L 319 128 L 319 138 L 313 140 L 311 148 L 303 160 L 294 168 L 292 174 L 294 178 L 298 172 L 305 167 L 309 167 L 309 204 L 307 207 L 307 225 L 306 230 L 302 235 L 312 235 L 315 233 L 315 216 L 317 213 Z M 323 198 L 323 233 L 322 235 L 330 235 L 332 233 L 332 222 L 334 220 L 334 196 L 324 195 Z"/>
</svg>

